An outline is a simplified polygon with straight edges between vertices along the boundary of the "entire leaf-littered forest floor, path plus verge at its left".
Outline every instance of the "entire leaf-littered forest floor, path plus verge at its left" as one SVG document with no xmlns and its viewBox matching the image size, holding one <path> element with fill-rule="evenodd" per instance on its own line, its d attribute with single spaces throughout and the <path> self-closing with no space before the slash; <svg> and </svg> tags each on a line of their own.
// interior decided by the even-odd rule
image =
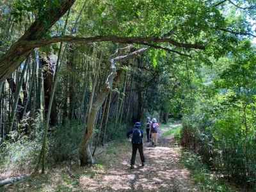
<svg viewBox="0 0 256 192">
<path fill-rule="evenodd" d="M 131 143 L 109 143 L 97 157 L 97 164 L 81 168 L 77 163 L 61 164 L 45 175 L 29 177 L 2 188 L 4 191 L 198 191 L 189 171 L 180 163 L 181 148 L 175 143 L 172 129 L 179 122 L 161 125 L 159 145 L 145 142 L 146 163 L 140 156 L 130 170 Z M 169 132 L 169 133 L 168 133 Z M 166 134 L 167 133 L 167 134 Z M 1 191 L 1 188 L 0 188 Z"/>
</svg>

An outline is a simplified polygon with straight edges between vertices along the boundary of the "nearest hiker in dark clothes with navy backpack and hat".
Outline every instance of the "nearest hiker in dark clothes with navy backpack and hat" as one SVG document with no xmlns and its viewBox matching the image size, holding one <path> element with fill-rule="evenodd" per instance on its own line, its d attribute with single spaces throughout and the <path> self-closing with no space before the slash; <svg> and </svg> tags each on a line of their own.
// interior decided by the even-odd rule
<svg viewBox="0 0 256 192">
<path fill-rule="evenodd" d="M 143 131 L 140 129 L 141 123 L 136 122 L 133 129 L 127 132 L 127 138 L 132 135 L 132 158 L 131 158 L 131 169 L 134 168 L 137 149 L 140 152 L 141 166 L 144 166 L 145 158 L 143 154 Z"/>
</svg>

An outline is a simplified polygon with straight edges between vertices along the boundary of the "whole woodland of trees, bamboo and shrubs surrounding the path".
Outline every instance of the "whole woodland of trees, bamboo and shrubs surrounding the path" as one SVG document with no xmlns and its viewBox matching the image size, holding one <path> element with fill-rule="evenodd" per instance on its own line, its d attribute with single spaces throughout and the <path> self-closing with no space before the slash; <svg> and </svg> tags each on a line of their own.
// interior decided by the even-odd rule
<svg viewBox="0 0 256 192">
<path fill-rule="evenodd" d="M 94 163 L 155 116 L 255 187 L 255 27 L 254 0 L 1 1 L 0 172 Z"/>
</svg>

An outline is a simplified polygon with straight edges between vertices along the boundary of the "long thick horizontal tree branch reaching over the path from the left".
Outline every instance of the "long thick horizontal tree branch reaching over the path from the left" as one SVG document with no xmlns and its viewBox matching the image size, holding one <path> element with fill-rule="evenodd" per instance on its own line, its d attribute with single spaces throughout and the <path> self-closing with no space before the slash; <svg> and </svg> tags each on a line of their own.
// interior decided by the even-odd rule
<svg viewBox="0 0 256 192">
<path fill-rule="evenodd" d="M 77 37 L 77 36 L 55 36 L 49 39 L 41 40 L 23 40 L 12 45 L 12 47 L 0 58 L 0 79 L 5 79 L 10 76 L 12 72 L 19 67 L 20 63 L 24 61 L 26 56 L 36 47 L 54 44 L 58 42 L 73 42 L 73 43 L 92 43 L 92 42 L 115 42 L 120 44 L 145 44 L 145 43 L 169 43 L 176 47 L 183 47 L 186 49 L 205 49 L 202 44 L 186 44 L 177 42 L 172 38 L 159 37 L 120 37 L 120 36 L 92 36 L 92 37 Z"/>
</svg>

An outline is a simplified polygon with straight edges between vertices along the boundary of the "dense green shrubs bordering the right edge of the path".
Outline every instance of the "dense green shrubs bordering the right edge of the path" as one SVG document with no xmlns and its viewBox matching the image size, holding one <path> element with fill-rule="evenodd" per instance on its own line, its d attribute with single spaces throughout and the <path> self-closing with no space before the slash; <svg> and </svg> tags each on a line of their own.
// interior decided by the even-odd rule
<svg viewBox="0 0 256 192">
<path fill-rule="evenodd" d="M 255 104 L 244 110 L 234 93 L 198 100 L 182 119 L 181 144 L 236 184 L 256 186 Z M 246 114 L 246 121 L 245 115 Z"/>
</svg>

